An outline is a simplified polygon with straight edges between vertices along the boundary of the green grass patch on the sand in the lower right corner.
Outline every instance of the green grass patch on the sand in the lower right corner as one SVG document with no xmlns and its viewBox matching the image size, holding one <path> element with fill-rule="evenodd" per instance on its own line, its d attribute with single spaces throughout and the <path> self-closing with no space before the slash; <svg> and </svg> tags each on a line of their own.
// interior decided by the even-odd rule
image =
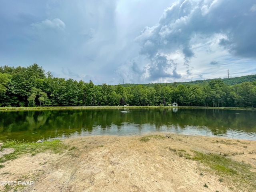
<svg viewBox="0 0 256 192">
<path fill-rule="evenodd" d="M 244 184 L 247 185 L 248 189 L 256 190 L 256 172 L 250 170 L 252 169 L 250 164 L 240 163 L 219 154 L 193 152 L 192 160 L 210 166 L 219 175 L 230 176 L 230 179 L 238 186 Z"/>
</svg>

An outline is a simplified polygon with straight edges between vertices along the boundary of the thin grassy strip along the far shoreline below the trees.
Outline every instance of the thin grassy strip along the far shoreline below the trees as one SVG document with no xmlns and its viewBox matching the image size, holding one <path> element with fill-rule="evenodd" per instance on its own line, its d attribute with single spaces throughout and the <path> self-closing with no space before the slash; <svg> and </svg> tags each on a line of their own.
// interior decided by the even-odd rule
<svg viewBox="0 0 256 192">
<path fill-rule="evenodd" d="M 209 106 L 58 106 L 58 107 L 0 107 L 0 111 L 5 110 L 71 110 L 71 109 L 122 109 L 122 108 L 187 108 L 187 109 L 228 109 L 228 110 L 256 110 L 256 108 L 239 107 L 209 107 Z"/>
</svg>

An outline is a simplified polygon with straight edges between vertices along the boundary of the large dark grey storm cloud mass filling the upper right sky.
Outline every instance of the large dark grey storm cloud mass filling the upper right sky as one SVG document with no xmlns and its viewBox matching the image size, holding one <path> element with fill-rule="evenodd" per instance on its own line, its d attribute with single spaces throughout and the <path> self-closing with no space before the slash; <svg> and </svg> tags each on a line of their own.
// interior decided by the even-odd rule
<svg viewBox="0 0 256 192">
<path fill-rule="evenodd" d="M 189 69 L 194 56 L 192 45 L 200 38 L 222 35 L 219 45 L 234 56 L 256 58 L 256 5 L 254 1 L 233 0 L 180 0 L 164 11 L 158 25 L 145 27 L 136 38 L 140 54 L 152 62 L 149 71 L 152 79 L 172 76 L 165 72 L 167 60 L 152 59 L 157 54 L 170 54 L 180 50 L 184 65 Z M 218 40 L 218 39 L 217 39 Z M 211 64 L 217 64 L 211 62 Z"/>
</svg>

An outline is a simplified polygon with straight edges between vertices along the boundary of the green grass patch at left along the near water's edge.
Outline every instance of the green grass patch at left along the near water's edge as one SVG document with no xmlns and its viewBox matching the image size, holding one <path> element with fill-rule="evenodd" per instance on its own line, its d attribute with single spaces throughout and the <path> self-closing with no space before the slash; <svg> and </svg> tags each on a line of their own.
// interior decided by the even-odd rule
<svg viewBox="0 0 256 192">
<path fill-rule="evenodd" d="M 62 144 L 60 140 L 45 141 L 43 143 L 30 143 L 17 140 L 6 141 L 1 146 L 2 148 L 14 148 L 14 152 L 6 154 L 0 158 L 0 163 L 6 162 L 8 160 L 16 159 L 22 154 L 36 155 L 37 153 L 44 151 L 52 151 L 54 153 L 63 152 L 67 146 Z"/>
</svg>

